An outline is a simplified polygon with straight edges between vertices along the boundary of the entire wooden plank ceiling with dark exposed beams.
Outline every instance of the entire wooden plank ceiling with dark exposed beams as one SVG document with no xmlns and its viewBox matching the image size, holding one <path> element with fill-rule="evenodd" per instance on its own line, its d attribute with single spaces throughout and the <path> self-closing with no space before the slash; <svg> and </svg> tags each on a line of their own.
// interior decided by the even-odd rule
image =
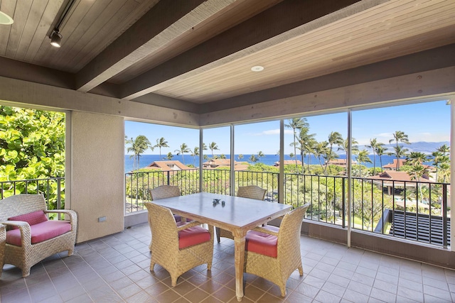
<svg viewBox="0 0 455 303">
<path fill-rule="evenodd" d="M 69 1 L 1 1 L 0 76 L 206 113 L 455 43 L 451 0 L 75 0 L 53 48 Z"/>
</svg>

